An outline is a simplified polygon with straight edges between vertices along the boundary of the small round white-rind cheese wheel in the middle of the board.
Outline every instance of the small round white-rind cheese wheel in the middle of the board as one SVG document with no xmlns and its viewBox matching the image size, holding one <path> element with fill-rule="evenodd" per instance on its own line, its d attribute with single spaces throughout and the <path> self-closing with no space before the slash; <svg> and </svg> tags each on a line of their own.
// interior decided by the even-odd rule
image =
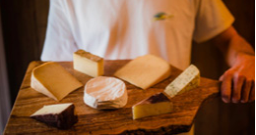
<svg viewBox="0 0 256 135">
<path fill-rule="evenodd" d="M 85 86 L 84 102 L 94 109 L 119 109 L 127 104 L 127 100 L 126 86 L 120 79 L 98 76 Z"/>
</svg>

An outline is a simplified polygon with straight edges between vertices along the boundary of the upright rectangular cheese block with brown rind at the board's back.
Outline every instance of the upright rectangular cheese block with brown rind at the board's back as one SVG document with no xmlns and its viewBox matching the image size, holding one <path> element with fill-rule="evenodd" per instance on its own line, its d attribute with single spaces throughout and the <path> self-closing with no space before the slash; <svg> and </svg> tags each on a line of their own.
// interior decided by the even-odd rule
<svg viewBox="0 0 256 135">
<path fill-rule="evenodd" d="M 96 77 L 103 75 L 103 59 L 84 50 L 78 50 L 73 54 L 74 68 L 78 71 Z"/>
</svg>

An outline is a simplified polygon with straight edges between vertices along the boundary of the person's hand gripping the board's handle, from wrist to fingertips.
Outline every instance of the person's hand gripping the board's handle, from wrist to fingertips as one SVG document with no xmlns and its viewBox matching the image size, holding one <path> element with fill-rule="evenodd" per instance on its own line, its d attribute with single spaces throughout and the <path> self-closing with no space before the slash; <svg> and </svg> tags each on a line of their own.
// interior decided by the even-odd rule
<svg viewBox="0 0 256 135">
<path fill-rule="evenodd" d="M 224 103 L 247 103 L 255 97 L 255 57 L 245 54 L 237 56 L 232 67 L 220 77 Z"/>
</svg>

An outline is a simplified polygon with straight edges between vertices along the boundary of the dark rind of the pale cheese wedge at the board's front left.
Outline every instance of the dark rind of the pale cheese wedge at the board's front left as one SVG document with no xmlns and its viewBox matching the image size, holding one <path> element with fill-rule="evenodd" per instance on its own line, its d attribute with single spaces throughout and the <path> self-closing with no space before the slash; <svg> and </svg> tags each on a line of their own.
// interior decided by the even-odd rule
<svg viewBox="0 0 256 135">
<path fill-rule="evenodd" d="M 58 129 L 69 129 L 78 122 L 78 117 L 74 114 L 74 110 L 75 106 L 71 105 L 60 113 L 45 113 L 32 115 L 31 117 Z"/>
</svg>

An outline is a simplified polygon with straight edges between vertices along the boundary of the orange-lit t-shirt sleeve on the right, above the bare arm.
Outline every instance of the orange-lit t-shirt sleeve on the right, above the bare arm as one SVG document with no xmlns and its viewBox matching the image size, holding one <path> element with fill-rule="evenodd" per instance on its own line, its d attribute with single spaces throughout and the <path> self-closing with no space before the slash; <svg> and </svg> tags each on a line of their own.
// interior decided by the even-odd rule
<svg viewBox="0 0 256 135">
<path fill-rule="evenodd" d="M 193 39 L 207 41 L 223 32 L 234 22 L 222 0 L 199 0 Z"/>
</svg>

